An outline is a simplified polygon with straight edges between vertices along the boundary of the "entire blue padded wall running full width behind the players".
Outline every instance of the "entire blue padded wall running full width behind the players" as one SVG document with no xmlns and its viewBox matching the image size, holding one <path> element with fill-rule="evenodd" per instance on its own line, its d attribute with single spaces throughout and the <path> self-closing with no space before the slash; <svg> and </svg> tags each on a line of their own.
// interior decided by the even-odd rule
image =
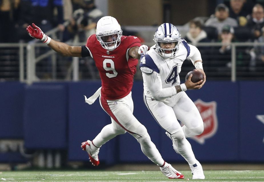
<svg viewBox="0 0 264 182">
<path fill-rule="evenodd" d="M 81 142 L 92 140 L 111 123 L 98 99 L 92 105 L 84 101 L 83 95 L 91 96 L 100 85 L 100 81 L 29 86 L 1 82 L 0 141 L 23 139 L 26 148 L 67 150 L 69 161 L 88 162 L 88 155 L 80 148 Z M 205 118 L 207 134 L 188 139 L 200 162 L 264 162 L 263 81 L 207 81 L 202 89 L 186 93 Z M 132 98 L 134 115 L 145 125 L 164 160 L 184 162 L 146 108 L 142 81 L 134 82 Z M 17 151 L 0 151 L 0 162 L 21 161 L 21 158 Z M 104 144 L 99 158 L 105 164 L 150 162 L 129 133 Z"/>
</svg>

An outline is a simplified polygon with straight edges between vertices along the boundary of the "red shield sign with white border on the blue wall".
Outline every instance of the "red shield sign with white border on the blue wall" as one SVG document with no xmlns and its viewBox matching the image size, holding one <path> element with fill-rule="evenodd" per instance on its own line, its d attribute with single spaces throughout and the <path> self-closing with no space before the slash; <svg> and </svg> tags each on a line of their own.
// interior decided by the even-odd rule
<svg viewBox="0 0 264 182">
<path fill-rule="evenodd" d="M 202 100 L 198 99 L 194 102 L 194 104 L 198 108 L 198 111 L 200 112 L 203 119 L 204 130 L 201 135 L 194 136 L 192 139 L 196 140 L 200 144 L 203 144 L 205 139 L 211 138 L 217 131 L 217 103 L 215 101 L 203 102 Z"/>
</svg>

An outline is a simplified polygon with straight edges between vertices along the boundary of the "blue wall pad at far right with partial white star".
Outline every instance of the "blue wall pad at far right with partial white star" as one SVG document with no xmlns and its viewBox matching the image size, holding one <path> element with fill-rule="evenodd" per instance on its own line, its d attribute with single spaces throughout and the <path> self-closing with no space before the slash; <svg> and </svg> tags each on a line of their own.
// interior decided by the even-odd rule
<svg viewBox="0 0 264 182">
<path fill-rule="evenodd" d="M 264 162 L 264 82 L 240 82 L 241 160 Z"/>
</svg>

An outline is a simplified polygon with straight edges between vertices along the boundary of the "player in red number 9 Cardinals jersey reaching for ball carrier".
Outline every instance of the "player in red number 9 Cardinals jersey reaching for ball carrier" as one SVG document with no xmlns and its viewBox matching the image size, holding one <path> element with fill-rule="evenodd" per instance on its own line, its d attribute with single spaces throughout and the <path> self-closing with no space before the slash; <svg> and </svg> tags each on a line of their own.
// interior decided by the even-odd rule
<svg viewBox="0 0 264 182">
<path fill-rule="evenodd" d="M 96 34 L 88 38 L 85 46 L 69 46 L 55 41 L 35 24 L 28 26 L 27 31 L 31 37 L 40 39 L 61 55 L 91 56 L 95 61 L 102 87 L 91 97 L 93 101 L 90 102 L 89 98 L 86 102 L 92 104 L 100 95 L 100 104 L 110 115 L 112 123 L 106 125 L 92 141 L 82 142 L 81 147 L 86 150 L 94 166 L 99 165 L 100 147 L 117 135 L 128 132 L 138 140 L 142 152 L 160 166 L 164 175 L 168 178 L 184 178 L 182 173 L 162 159 L 147 129 L 133 115 L 133 77 L 140 54 L 148 50 L 147 46 L 141 45 L 135 36 L 122 36 L 120 24 L 111 16 L 104 16 L 97 22 Z"/>
</svg>

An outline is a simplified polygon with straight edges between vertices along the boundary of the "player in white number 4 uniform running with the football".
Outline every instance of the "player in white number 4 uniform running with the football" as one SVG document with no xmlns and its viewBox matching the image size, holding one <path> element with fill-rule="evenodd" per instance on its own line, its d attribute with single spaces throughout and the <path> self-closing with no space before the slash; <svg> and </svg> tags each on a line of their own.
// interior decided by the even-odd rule
<svg viewBox="0 0 264 182">
<path fill-rule="evenodd" d="M 141 56 L 140 70 L 144 80 L 144 102 L 158 124 L 171 138 L 174 150 L 190 165 L 193 179 L 205 179 L 201 164 L 196 160 L 186 137 L 203 132 L 201 115 L 184 92 L 199 89 L 205 83 L 205 73 L 199 50 L 181 39 L 178 29 L 170 23 L 158 27 L 154 35 L 156 45 Z M 188 80 L 180 84 L 182 63 L 190 58 L 204 79 L 197 83 Z M 180 120 L 184 126 L 181 127 Z"/>
</svg>

